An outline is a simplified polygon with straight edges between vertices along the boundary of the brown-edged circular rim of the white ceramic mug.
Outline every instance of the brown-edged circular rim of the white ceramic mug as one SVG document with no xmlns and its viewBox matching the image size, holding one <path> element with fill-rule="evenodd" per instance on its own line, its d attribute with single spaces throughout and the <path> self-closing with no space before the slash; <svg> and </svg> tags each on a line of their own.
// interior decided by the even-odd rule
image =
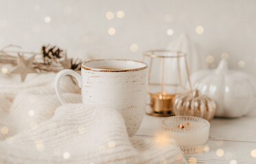
<svg viewBox="0 0 256 164">
<path fill-rule="evenodd" d="M 122 70 L 104 69 L 104 68 L 93 68 L 93 67 L 85 66 L 86 63 L 89 63 L 89 62 L 92 62 L 92 61 L 106 61 L 106 60 L 112 60 L 112 61 L 134 61 L 134 62 L 137 62 L 137 63 L 144 64 L 144 66 L 139 67 L 139 68 L 127 68 L 127 69 L 122 69 Z M 81 68 L 84 68 L 84 70 L 93 70 L 93 71 L 97 71 L 97 72 L 128 72 L 128 71 L 144 70 L 144 69 L 148 68 L 148 64 L 146 64 L 143 61 L 137 61 L 137 60 L 132 60 L 132 59 L 93 59 L 93 60 L 82 62 Z"/>
</svg>

